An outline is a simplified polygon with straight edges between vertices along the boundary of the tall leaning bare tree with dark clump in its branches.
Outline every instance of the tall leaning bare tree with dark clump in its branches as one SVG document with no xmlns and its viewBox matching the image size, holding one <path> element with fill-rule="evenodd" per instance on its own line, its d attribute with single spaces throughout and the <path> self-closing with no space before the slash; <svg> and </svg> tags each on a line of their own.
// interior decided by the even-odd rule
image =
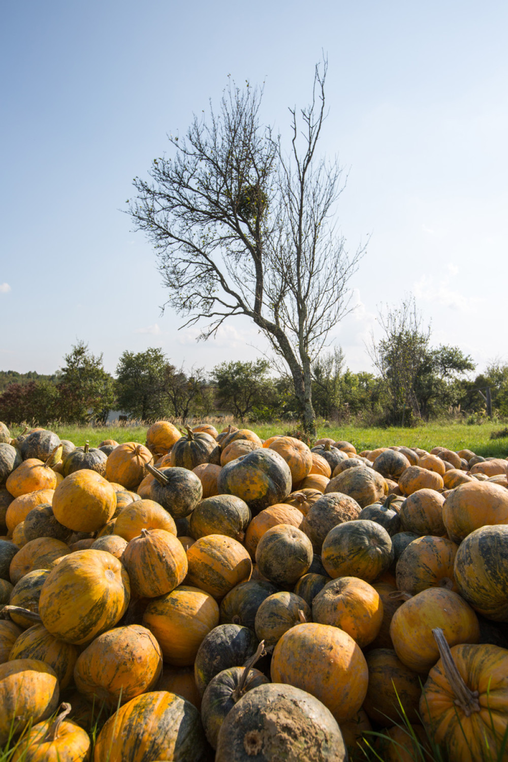
<svg viewBox="0 0 508 762">
<path fill-rule="evenodd" d="M 262 92 L 230 85 L 219 113 L 194 117 L 173 158 L 157 158 L 152 181 L 136 178 L 136 229 L 158 252 L 171 304 L 209 338 L 246 315 L 292 376 L 302 422 L 315 432 L 312 361 L 350 309 L 353 255 L 334 224 L 344 184 L 337 159 L 315 158 L 326 117 L 327 62 L 316 66 L 312 102 L 290 109 L 289 153 L 259 120 Z"/>
</svg>

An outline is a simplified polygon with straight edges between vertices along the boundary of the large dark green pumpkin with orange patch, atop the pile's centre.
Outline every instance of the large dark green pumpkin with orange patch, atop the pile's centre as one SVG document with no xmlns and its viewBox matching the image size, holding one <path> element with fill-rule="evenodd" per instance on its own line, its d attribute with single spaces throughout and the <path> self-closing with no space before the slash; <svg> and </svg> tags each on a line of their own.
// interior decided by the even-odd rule
<svg viewBox="0 0 508 762">
<path fill-rule="evenodd" d="M 291 492 L 291 471 L 279 453 L 267 447 L 226 463 L 219 474 L 219 493 L 237 495 L 253 514 L 280 503 Z"/>
</svg>

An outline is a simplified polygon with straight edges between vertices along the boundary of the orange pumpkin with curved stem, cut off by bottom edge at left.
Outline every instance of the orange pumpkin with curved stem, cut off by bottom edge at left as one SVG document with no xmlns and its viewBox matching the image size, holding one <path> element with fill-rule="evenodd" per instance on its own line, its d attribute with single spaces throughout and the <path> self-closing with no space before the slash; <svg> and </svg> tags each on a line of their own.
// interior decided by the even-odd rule
<svg viewBox="0 0 508 762">
<path fill-rule="evenodd" d="M 75 722 L 64 719 L 54 739 L 52 731 L 52 719 L 37 722 L 30 736 L 23 738 L 14 751 L 13 762 L 88 762 L 91 759 L 90 736 Z"/>
</svg>

